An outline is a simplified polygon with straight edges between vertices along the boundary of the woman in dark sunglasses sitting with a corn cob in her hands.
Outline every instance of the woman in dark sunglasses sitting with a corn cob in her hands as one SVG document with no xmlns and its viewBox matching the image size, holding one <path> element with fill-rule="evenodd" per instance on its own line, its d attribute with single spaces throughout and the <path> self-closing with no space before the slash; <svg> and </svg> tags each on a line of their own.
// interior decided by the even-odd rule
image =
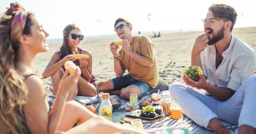
<svg viewBox="0 0 256 134">
<path fill-rule="evenodd" d="M 96 96 L 96 78 L 92 73 L 92 53 L 89 50 L 79 47 L 84 35 L 75 24 L 69 24 L 63 30 L 63 43 L 59 51 L 55 52 L 43 71 L 43 78 L 51 76 L 52 87 L 50 90 L 53 94 L 58 92 L 60 79 L 65 71 L 64 63 L 68 60 L 74 62 L 80 67 L 82 75 L 78 79 L 78 85 L 75 85 L 70 91 L 68 100 L 74 100 L 76 95 L 79 96 Z M 70 54 L 86 54 L 89 58 L 75 59 Z"/>
</svg>

